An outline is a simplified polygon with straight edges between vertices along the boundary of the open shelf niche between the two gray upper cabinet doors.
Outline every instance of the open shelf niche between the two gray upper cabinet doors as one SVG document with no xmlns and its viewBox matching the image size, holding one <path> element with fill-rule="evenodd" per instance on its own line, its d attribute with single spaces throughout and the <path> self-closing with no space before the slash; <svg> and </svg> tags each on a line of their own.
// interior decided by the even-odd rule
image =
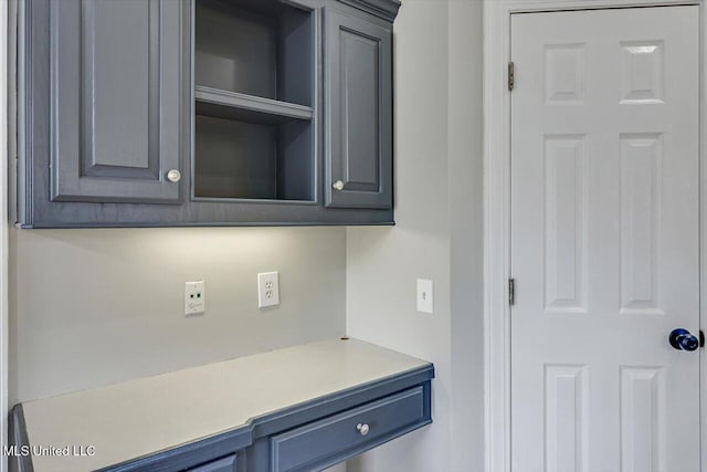
<svg viewBox="0 0 707 472">
<path fill-rule="evenodd" d="M 315 199 L 314 18 L 197 0 L 196 199 Z"/>
</svg>

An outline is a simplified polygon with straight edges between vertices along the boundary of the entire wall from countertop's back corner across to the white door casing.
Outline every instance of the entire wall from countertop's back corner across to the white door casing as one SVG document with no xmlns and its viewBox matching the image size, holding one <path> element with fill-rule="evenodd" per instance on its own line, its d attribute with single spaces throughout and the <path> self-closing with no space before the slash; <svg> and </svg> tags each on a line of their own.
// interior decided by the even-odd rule
<svg viewBox="0 0 707 472">
<path fill-rule="evenodd" d="M 481 1 L 403 1 L 394 48 L 398 224 L 347 230 L 347 332 L 435 364 L 434 423 L 349 472 L 481 471 Z M 415 311 L 416 277 L 434 315 Z"/>
</svg>

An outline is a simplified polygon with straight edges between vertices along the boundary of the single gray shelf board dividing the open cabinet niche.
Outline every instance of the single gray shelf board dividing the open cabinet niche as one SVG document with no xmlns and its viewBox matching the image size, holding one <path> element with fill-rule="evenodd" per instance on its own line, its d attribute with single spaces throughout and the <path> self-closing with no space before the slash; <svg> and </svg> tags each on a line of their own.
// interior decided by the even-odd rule
<svg viewBox="0 0 707 472">
<path fill-rule="evenodd" d="M 258 124 L 310 120 L 312 107 L 219 88 L 194 87 L 197 115 Z"/>
</svg>

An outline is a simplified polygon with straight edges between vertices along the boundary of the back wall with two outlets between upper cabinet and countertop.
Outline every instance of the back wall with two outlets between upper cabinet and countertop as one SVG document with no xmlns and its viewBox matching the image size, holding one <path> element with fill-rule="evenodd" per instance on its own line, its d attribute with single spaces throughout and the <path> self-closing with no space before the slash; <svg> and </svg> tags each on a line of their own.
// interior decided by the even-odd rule
<svg viewBox="0 0 707 472">
<path fill-rule="evenodd" d="M 12 230 L 10 399 L 340 336 L 345 247 L 344 228 Z M 257 308 L 264 271 L 278 308 Z M 187 318 L 202 279 L 207 314 Z"/>
</svg>

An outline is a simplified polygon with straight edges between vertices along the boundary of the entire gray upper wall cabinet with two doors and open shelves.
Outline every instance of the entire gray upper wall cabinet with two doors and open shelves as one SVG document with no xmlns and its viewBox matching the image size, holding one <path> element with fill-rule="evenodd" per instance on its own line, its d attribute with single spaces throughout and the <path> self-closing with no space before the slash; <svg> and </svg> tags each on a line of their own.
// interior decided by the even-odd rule
<svg viewBox="0 0 707 472">
<path fill-rule="evenodd" d="M 392 224 L 398 0 L 27 0 L 25 228 Z"/>
</svg>

